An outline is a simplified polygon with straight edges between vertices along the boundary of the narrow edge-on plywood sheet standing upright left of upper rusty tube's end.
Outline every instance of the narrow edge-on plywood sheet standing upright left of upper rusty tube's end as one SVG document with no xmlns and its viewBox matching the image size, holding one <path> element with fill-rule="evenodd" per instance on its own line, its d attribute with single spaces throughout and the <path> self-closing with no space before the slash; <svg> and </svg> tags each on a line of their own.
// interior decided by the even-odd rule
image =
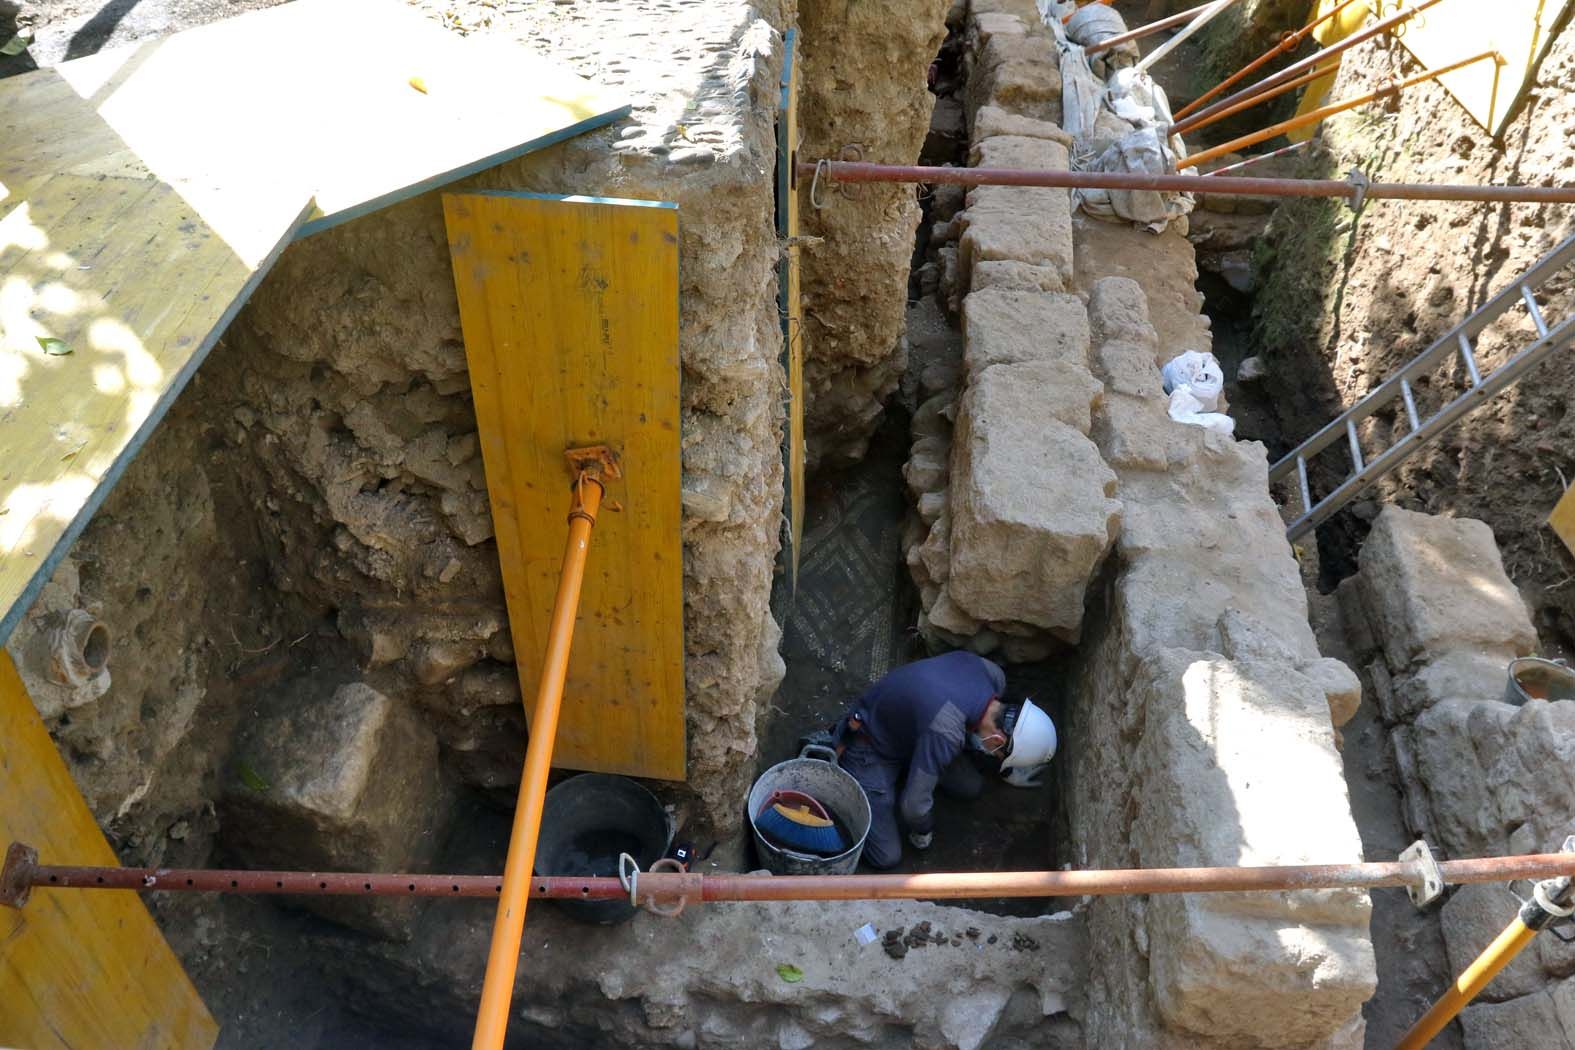
<svg viewBox="0 0 1575 1050">
<path fill-rule="evenodd" d="M 799 249 L 799 30 L 783 41 L 781 99 L 776 113 L 776 235 L 788 249 L 778 268 L 776 305 L 783 318 L 783 370 L 788 373 L 788 564 L 799 586 L 803 543 L 803 298 Z"/>
</svg>

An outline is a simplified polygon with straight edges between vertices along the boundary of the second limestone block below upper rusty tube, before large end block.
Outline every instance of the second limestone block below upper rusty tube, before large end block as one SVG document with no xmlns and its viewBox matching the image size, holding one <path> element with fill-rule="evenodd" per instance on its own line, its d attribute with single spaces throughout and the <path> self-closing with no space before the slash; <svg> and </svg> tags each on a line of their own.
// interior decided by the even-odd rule
<svg viewBox="0 0 1575 1050">
<path fill-rule="evenodd" d="M 962 301 L 962 343 L 970 379 L 991 365 L 1028 360 L 1069 362 L 1087 375 L 1088 313 L 1063 293 L 973 291 Z"/>
</svg>

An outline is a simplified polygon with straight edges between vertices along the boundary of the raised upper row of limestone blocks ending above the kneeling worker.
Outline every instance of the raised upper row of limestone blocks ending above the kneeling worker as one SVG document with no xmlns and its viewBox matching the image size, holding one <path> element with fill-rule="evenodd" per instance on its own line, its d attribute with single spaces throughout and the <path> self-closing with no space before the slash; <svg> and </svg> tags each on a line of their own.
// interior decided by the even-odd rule
<svg viewBox="0 0 1575 1050">
<path fill-rule="evenodd" d="M 1060 71 L 1032 5 L 973 3 L 962 109 L 975 167 L 1065 168 Z M 1076 642 L 1120 527 L 1115 474 L 1090 441 L 1102 386 L 1073 283 L 1062 189 L 981 186 L 937 214 L 937 298 L 958 309 L 962 370 L 914 419 L 907 560 L 920 631 L 1011 661 Z"/>
</svg>

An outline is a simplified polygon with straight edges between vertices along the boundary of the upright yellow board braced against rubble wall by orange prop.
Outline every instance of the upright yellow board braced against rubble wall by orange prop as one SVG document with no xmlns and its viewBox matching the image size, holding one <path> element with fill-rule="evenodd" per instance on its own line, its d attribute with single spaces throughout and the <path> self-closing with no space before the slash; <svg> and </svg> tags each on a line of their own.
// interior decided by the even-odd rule
<svg viewBox="0 0 1575 1050">
<path fill-rule="evenodd" d="M 564 452 L 608 444 L 554 765 L 684 779 L 677 208 L 446 195 L 498 560 L 526 694 L 569 524 Z"/>
</svg>

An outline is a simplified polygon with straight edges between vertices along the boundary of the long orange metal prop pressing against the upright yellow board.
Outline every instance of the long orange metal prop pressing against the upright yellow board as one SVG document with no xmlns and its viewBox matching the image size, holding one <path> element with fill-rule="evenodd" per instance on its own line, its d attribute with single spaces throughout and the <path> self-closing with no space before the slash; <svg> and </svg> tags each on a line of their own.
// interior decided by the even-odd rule
<svg viewBox="0 0 1575 1050">
<path fill-rule="evenodd" d="M 547 773 L 553 765 L 553 738 L 558 735 L 558 712 L 564 699 L 564 677 L 569 674 L 569 644 L 575 634 L 580 584 L 584 579 L 591 526 L 595 524 L 597 510 L 602 507 L 602 482 L 591 474 L 581 471 L 575 479 L 575 502 L 569 512 L 569 545 L 558 579 L 558 598 L 553 601 L 553 625 L 547 638 L 542 680 L 536 690 L 536 713 L 531 718 L 531 738 L 524 748 L 524 775 L 520 778 L 520 801 L 513 809 L 513 830 L 509 833 L 509 860 L 502 871 L 502 891 L 498 918 L 493 921 L 491 949 L 487 954 L 487 978 L 482 981 L 472 1050 L 501 1050 L 509 1033 L 509 1004 L 513 1000 L 513 976 L 520 965 L 524 905 L 531 897 L 531 867 L 536 864 Z"/>
</svg>

